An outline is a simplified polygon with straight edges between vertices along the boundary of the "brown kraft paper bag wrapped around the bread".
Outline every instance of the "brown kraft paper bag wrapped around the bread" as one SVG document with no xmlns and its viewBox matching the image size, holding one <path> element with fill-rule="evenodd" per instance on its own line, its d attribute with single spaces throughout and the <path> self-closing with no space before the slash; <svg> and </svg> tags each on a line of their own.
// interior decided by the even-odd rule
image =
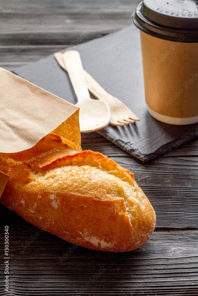
<svg viewBox="0 0 198 296">
<path fill-rule="evenodd" d="M 0 152 L 29 149 L 51 132 L 82 151 L 79 108 L 0 67 Z M 0 197 L 8 179 L 0 171 Z"/>
</svg>

